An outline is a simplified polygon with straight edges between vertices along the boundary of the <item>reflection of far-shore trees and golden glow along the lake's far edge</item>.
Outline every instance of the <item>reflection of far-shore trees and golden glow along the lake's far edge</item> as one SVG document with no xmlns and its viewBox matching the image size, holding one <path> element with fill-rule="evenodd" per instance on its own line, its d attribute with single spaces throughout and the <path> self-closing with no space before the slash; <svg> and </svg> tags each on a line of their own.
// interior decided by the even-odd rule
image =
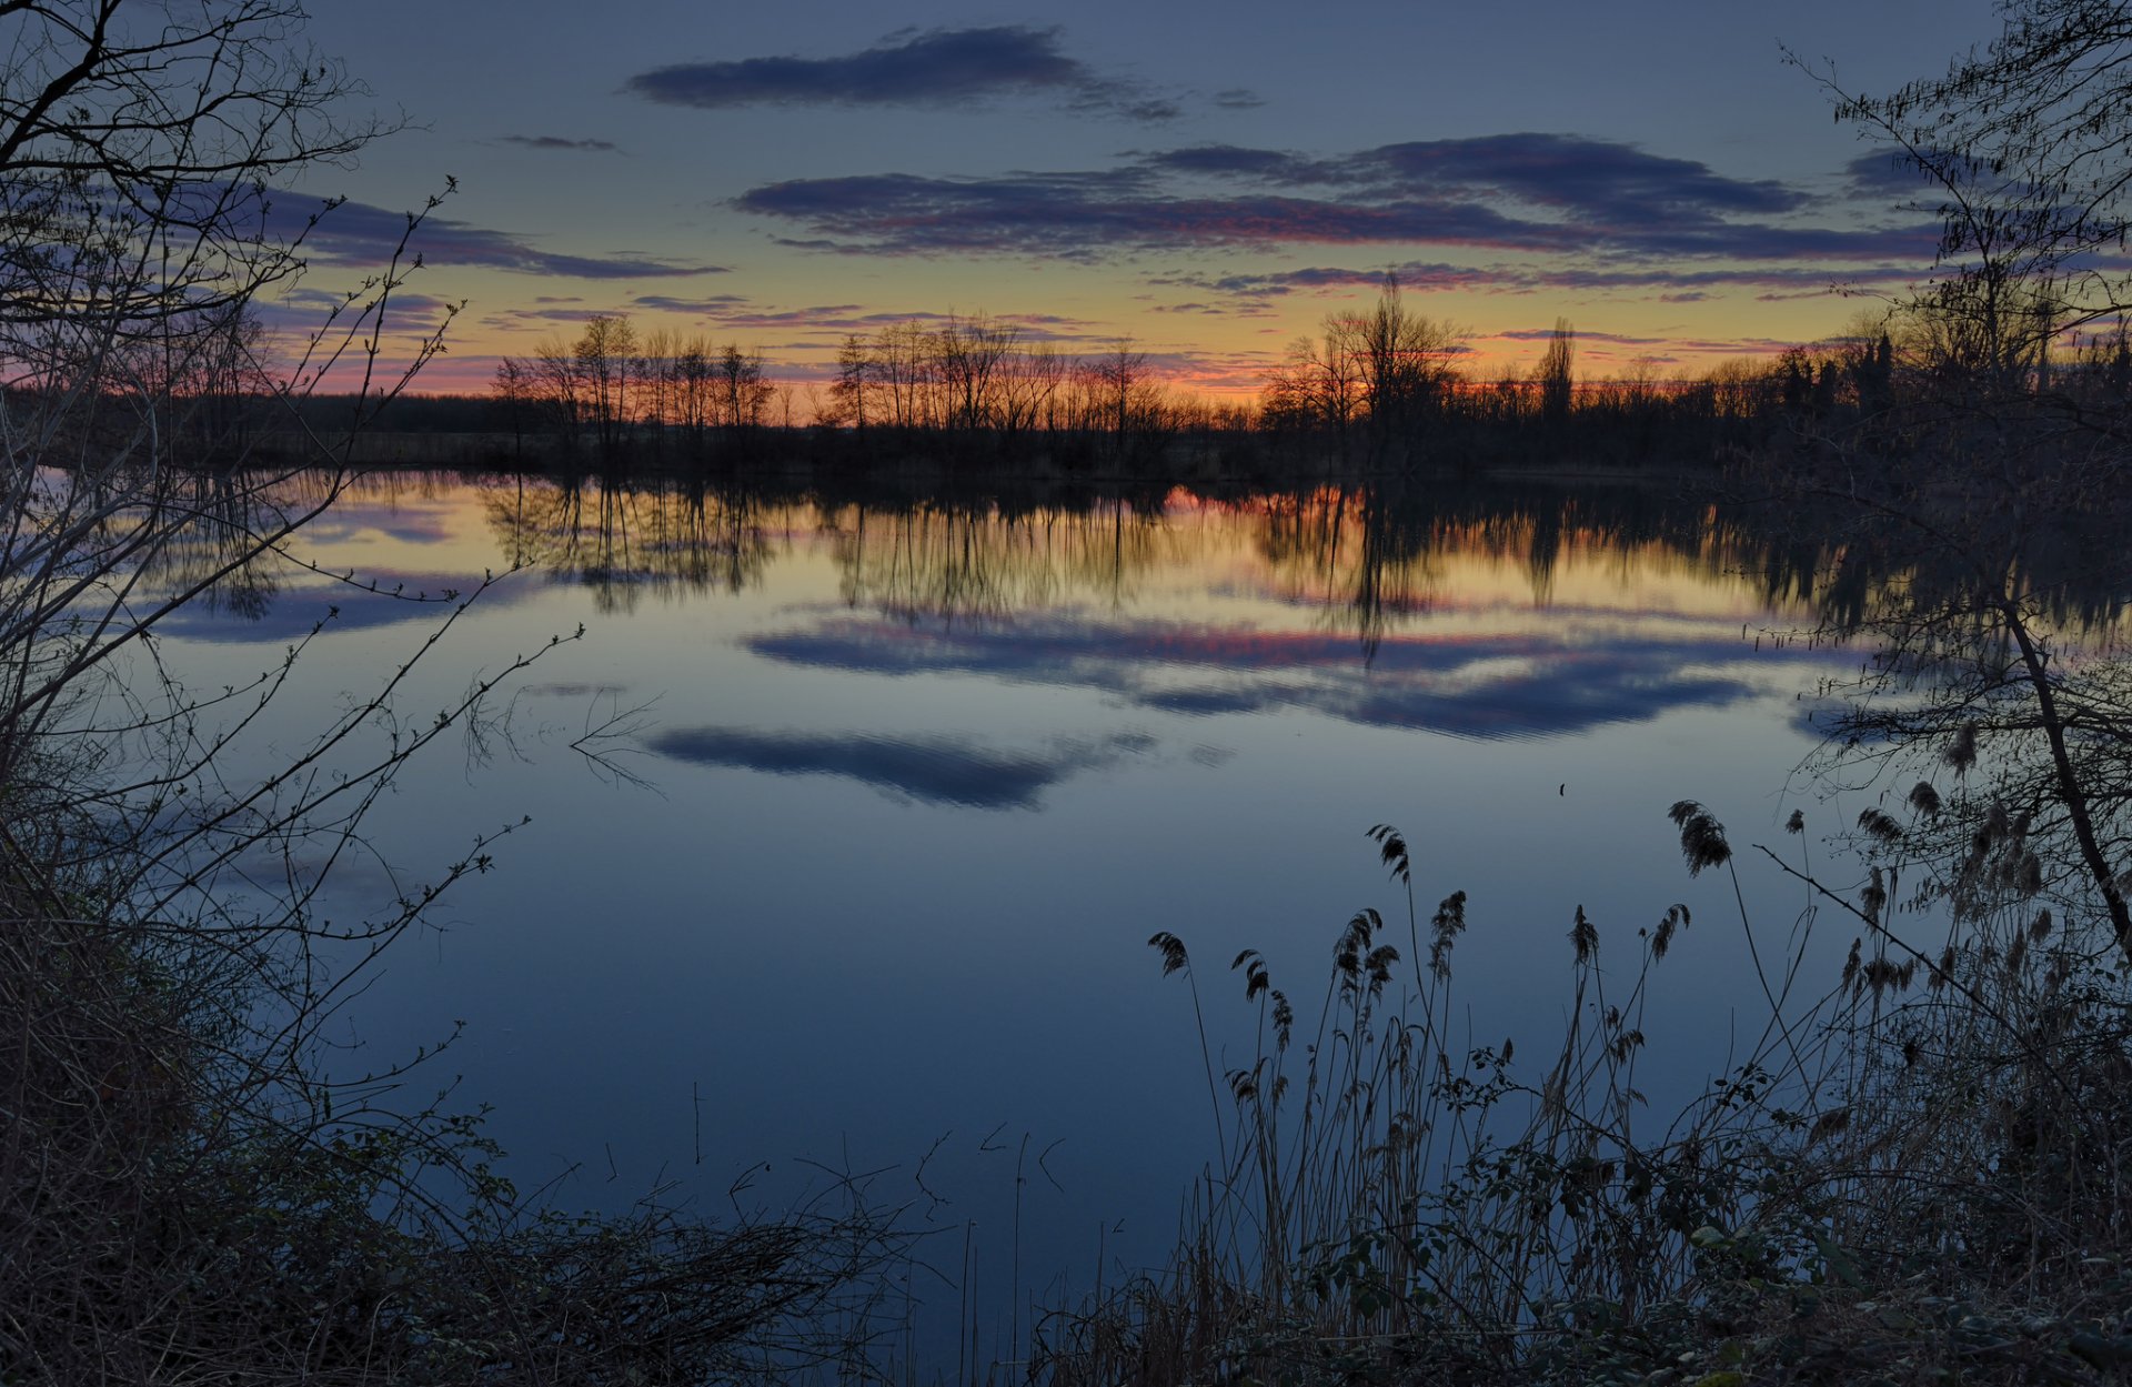
<svg viewBox="0 0 2132 1387">
<path fill-rule="evenodd" d="M 301 477 L 273 486 L 203 479 L 185 499 L 203 524 L 194 545 L 164 556 L 171 586 L 211 575 L 224 541 L 309 505 Z M 316 484 L 313 488 L 316 490 Z M 469 499 L 490 535 L 461 573 L 409 565 L 420 548 L 467 548 Z M 382 473 L 358 479 L 301 543 L 343 552 L 358 537 L 405 545 L 392 571 L 360 577 L 465 584 L 486 569 L 537 567 L 627 614 L 646 592 L 693 599 L 759 586 L 795 543 L 827 541 L 838 597 L 904 620 L 1017 620 L 1062 605 L 1117 609 L 1164 571 L 1226 569 L 1228 582 L 1315 611 L 1373 660 L 1386 637 L 1471 601 L 1486 577 L 1497 599 L 1578 603 L 1565 588 L 1635 580 L 1738 586 L 1757 607 L 1799 618 L 1840 614 L 1859 586 L 1889 571 L 1863 545 L 1802 539 L 1767 516 L 1725 513 L 1644 488 L 1373 488 L 1339 486 L 1245 496 L 1075 496 L 1030 501 L 883 496 L 834 488 L 763 490 L 704 477 L 450 477 Z M 222 548 L 228 548 L 222 543 Z M 473 558 L 473 554 L 465 554 Z M 239 616 L 262 616 L 301 573 L 232 571 L 215 586 Z"/>
</svg>

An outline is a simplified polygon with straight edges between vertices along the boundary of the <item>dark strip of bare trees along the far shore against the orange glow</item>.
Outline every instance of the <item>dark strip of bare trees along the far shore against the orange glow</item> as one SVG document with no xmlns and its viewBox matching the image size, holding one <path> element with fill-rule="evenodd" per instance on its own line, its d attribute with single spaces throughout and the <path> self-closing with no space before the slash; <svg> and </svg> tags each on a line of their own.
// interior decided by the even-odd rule
<svg viewBox="0 0 2132 1387">
<path fill-rule="evenodd" d="M 697 464 L 802 458 L 866 467 L 925 454 L 983 467 L 1045 460 L 1055 471 L 1156 473 L 1188 460 L 1256 469 L 1488 467 L 1544 454 L 1563 464 L 1708 467 L 1831 445 L 1906 450 L 1910 418 L 1944 422 L 1953 396 L 1989 377 L 2070 413 L 2119 415 L 2132 401 L 2126 324 L 2096 334 L 2030 334 L 2013 360 L 1972 360 L 1957 320 L 1900 311 L 1776 358 L 1729 360 L 1693 379 L 1654 362 L 1580 377 L 1576 330 L 1556 322 L 1539 362 L 1480 377 L 1460 332 L 1411 311 L 1392 277 L 1367 311 L 1332 313 L 1296 339 L 1256 401 L 1209 401 L 1160 379 L 1147 354 L 1117 343 L 1070 356 L 987 315 L 895 322 L 851 334 L 827 384 L 780 384 L 738 343 L 640 332 L 595 315 L 574 341 L 499 360 L 486 394 L 296 401 L 294 424 L 320 437 L 358 422 L 373 435 L 469 435 L 467 462 Z M 198 441 L 271 445 L 260 377 L 192 390 Z M 286 407 L 284 407 L 286 409 Z M 441 458 L 426 458 L 441 460 Z"/>
</svg>

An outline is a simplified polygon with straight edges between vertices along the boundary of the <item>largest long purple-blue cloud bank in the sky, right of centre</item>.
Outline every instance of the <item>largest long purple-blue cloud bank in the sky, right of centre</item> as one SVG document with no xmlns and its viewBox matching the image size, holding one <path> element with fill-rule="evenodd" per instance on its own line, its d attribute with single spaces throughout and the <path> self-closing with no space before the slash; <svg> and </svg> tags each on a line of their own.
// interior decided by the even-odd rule
<svg viewBox="0 0 2132 1387">
<path fill-rule="evenodd" d="M 1808 194 L 1567 134 L 1409 141 L 1313 158 L 1194 145 L 1109 170 L 791 179 L 736 207 L 846 254 L 1096 260 L 1149 249 L 1441 245 L 1612 260 L 1929 262 L 1932 226 L 1797 226 Z M 1637 264 L 1644 262 L 1644 264 Z M 1650 262 L 1667 271 L 1652 271 Z M 1445 275 L 1452 266 L 1443 266 Z M 1827 268 L 1816 271 L 1829 277 Z"/>
</svg>

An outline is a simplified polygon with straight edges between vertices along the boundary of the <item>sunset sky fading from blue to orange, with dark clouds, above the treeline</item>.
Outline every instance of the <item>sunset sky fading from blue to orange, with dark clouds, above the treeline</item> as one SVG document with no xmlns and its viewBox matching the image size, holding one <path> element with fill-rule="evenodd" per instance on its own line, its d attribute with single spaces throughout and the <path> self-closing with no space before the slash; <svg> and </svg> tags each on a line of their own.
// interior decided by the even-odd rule
<svg viewBox="0 0 2132 1387">
<path fill-rule="evenodd" d="M 989 313 L 1251 392 L 1388 268 L 1477 373 L 1561 315 L 1580 373 L 1697 375 L 1929 264 L 1921 190 L 1782 47 L 1885 92 L 1996 28 L 1987 0 L 333 0 L 311 40 L 414 126 L 292 190 L 350 198 L 294 307 L 450 175 L 411 307 L 467 309 L 431 390 L 608 311 L 789 381 L 849 332 Z"/>
</svg>

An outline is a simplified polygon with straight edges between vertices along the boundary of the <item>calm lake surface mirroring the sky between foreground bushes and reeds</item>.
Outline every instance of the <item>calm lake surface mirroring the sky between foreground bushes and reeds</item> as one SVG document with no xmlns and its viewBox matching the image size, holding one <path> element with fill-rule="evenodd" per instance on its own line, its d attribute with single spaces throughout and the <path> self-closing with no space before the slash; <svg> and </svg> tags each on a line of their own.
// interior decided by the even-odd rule
<svg viewBox="0 0 2132 1387">
<path fill-rule="evenodd" d="M 420 1093 L 458 1076 L 527 1182 L 576 1172 L 569 1202 L 672 1182 L 716 1212 L 742 1178 L 774 1206 L 814 1163 L 878 1170 L 951 1231 L 949 1280 L 979 1225 L 991 1319 L 1008 1285 L 1087 1287 L 1098 1249 L 1107 1278 L 1160 1259 L 1213 1153 L 1149 933 L 1185 940 L 1241 1061 L 1228 961 L 1260 948 L 1318 995 L 1356 908 L 1405 918 L 1364 839 L 1394 822 L 1424 916 L 1469 893 L 1473 1042 L 1537 1055 L 1573 910 L 1633 967 L 1686 901 L 1646 1025 L 1650 1087 L 1684 1093 L 1759 1025 L 1731 886 L 1686 878 L 1667 805 L 1740 844 L 1842 818 L 1793 771 L 1802 690 L 1855 656 L 1776 639 L 1812 622 L 1780 552 L 1644 492 L 951 507 L 401 475 L 303 539 L 407 592 L 531 565 L 422 667 L 416 720 L 584 626 L 335 876 L 356 914 L 531 816 L 348 1006 L 348 1063 L 465 1023 Z M 228 682 L 328 605 L 258 765 L 443 607 L 284 569 L 173 626 L 173 663 Z M 571 750 L 610 718 L 605 765 Z M 1750 908 L 1782 935 L 1802 901 L 1770 882 Z"/>
</svg>

